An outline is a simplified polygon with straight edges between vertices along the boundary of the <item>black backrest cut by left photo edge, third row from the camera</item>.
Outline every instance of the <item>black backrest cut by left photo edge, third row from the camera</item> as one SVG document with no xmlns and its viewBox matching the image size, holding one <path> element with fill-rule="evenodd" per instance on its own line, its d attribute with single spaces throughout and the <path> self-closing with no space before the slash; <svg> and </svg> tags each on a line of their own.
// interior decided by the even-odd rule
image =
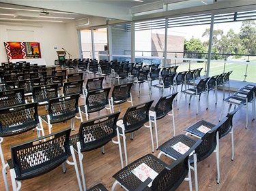
<svg viewBox="0 0 256 191">
<path fill-rule="evenodd" d="M 0 92 L 0 108 L 25 104 L 24 89 L 13 89 Z"/>
</svg>

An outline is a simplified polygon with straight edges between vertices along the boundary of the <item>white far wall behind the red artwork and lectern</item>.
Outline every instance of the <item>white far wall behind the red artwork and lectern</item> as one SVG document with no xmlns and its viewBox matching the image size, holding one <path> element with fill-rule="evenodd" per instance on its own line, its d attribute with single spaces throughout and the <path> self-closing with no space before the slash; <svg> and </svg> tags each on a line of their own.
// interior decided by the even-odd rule
<svg viewBox="0 0 256 191">
<path fill-rule="evenodd" d="M 8 30 L 17 31 L 17 37 L 8 35 Z M 22 31 L 22 32 L 20 32 Z M 22 39 L 18 37 L 20 33 L 26 33 L 22 35 Z M 33 37 L 31 37 L 31 31 L 33 31 Z M 21 36 L 21 35 L 20 35 Z M 10 39 L 12 38 L 12 39 Z M 74 22 L 68 24 L 56 24 L 56 23 L 13 23 L 13 22 L 0 22 L 0 62 L 8 62 L 4 41 L 35 41 L 40 43 L 41 56 L 45 59 L 46 65 L 54 65 L 54 60 L 57 59 L 57 50 L 65 48 L 72 57 L 79 58 L 79 40 L 77 37 L 76 28 Z M 57 49 L 54 49 L 57 47 Z M 66 55 L 68 58 L 68 54 Z"/>
</svg>

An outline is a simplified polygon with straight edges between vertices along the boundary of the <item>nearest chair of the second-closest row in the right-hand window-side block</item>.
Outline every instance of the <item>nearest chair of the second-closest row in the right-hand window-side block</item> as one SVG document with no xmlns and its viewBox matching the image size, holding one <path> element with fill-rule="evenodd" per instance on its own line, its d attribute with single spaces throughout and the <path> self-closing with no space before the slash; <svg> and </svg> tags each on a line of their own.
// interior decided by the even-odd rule
<svg viewBox="0 0 256 191">
<path fill-rule="evenodd" d="M 152 87 L 159 88 L 161 96 L 164 93 L 164 90 L 166 88 L 170 88 L 170 90 L 171 90 L 171 88 L 173 88 L 173 92 L 174 92 L 174 90 L 175 90 L 175 84 L 174 84 L 175 75 L 176 75 L 176 73 L 169 73 L 169 74 L 165 75 L 165 77 L 162 78 L 162 81 L 159 84 L 154 84 Z"/>
</svg>

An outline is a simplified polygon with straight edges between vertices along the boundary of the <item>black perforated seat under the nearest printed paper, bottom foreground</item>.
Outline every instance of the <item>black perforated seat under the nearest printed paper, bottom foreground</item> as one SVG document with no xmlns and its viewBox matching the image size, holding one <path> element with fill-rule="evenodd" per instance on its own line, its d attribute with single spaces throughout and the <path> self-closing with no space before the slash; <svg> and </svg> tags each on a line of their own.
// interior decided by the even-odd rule
<svg viewBox="0 0 256 191">
<path fill-rule="evenodd" d="M 142 181 L 134 173 L 132 173 L 132 171 L 134 172 L 134 169 L 139 167 L 141 164 L 144 166 L 146 164 L 147 167 L 150 167 L 157 174 L 167 167 L 167 164 L 162 162 L 162 160 L 158 159 L 156 156 L 147 154 L 128 164 L 128 166 L 124 167 L 124 169 L 115 173 L 113 177 L 127 190 L 136 190 L 141 185 Z M 151 188 L 147 187 L 144 190 L 151 190 Z"/>
</svg>

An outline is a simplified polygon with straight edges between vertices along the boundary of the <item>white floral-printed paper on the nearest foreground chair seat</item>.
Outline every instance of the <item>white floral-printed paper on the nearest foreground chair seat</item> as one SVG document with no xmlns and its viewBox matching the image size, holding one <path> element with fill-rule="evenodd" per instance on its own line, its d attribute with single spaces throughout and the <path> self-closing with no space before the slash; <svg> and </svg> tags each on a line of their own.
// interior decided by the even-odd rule
<svg viewBox="0 0 256 191">
<path fill-rule="evenodd" d="M 155 179 L 155 177 L 158 175 L 156 171 L 154 171 L 152 168 L 147 166 L 144 162 L 139 165 L 139 167 L 136 167 L 132 170 L 132 173 L 136 175 L 141 181 L 145 181 L 148 177 L 150 177 L 152 180 Z M 152 182 L 150 184 L 147 184 L 147 186 L 151 187 Z"/>
</svg>

